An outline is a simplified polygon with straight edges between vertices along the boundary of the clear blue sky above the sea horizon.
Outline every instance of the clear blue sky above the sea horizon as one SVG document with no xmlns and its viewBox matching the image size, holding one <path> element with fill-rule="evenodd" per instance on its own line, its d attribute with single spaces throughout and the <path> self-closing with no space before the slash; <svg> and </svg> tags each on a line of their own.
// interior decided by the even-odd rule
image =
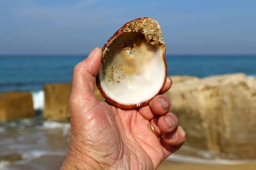
<svg viewBox="0 0 256 170">
<path fill-rule="evenodd" d="M 256 54 L 256 0 L 0 0 L 0 54 L 87 54 L 137 17 L 167 54 Z"/>
</svg>

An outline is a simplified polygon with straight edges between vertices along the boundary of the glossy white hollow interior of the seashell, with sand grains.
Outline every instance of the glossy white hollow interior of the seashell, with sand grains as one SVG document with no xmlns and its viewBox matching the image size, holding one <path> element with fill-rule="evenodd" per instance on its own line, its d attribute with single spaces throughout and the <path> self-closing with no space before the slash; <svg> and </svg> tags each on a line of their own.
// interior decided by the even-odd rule
<svg viewBox="0 0 256 170">
<path fill-rule="evenodd" d="M 105 94 L 122 105 L 140 106 L 157 95 L 166 76 L 162 46 L 139 33 L 122 34 L 109 48 L 99 80 Z"/>
</svg>

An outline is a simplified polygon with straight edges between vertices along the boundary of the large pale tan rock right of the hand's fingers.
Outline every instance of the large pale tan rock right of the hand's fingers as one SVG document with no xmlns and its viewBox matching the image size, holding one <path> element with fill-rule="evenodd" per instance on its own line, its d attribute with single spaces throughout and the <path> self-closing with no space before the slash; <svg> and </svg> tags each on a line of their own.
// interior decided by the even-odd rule
<svg viewBox="0 0 256 170">
<path fill-rule="evenodd" d="M 256 159 L 256 81 L 244 74 L 173 84 L 166 94 L 186 144 Z"/>
</svg>

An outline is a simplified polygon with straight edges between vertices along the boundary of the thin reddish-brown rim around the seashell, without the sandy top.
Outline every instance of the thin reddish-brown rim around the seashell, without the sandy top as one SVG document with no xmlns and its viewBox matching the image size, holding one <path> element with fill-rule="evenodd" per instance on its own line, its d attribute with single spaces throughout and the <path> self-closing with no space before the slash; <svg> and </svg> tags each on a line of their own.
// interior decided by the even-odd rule
<svg viewBox="0 0 256 170">
<path fill-rule="evenodd" d="M 137 19 L 134 19 L 134 20 L 147 19 L 147 18 L 149 18 L 149 17 L 141 17 L 141 18 L 137 18 Z M 103 48 L 102 48 L 102 53 L 103 53 L 103 54 L 104 54 L 105 49 L 108 47 L 109 43 L 110 43 L 111 41 L 113 41 L 114 39 L 116 39 L 119 35 L 124 34 L 124 33 L 123 33 L 123 32 L 124 32 L 123 30 L 125 29 L 126 25 L 127 25 L 128 23 L 131 23 L 131 22 L 134 21 L 134 20 L 131 20 L 131 21 L 125 23 L 121 28 L 119 28 L 119 30 L 117 30 L 117 31 L 115 32 L 115 34 L 113 34 L 112 37 L 110 37 L 110 38 L 108 39 L 108 41 L 105 43 L 105 45 L 104 45 Z M 158 93 L 157 93 L 156 95 L 154 95 L 151 99 L 148 99 L 147 101 L 140 103 L 140 105 L 137 105 L 137 104 L 133 104 L 133 105 L 124 105 L 124 104 L 120 104 L 119 102 L 116 102 L 116 101 L 114 101 L 113 99 L 111 99 L 110 97 L 108 97 L 108 95 L 105 94 L 105 92 L 102 90 L 102 87 L 101 87 L 101 85 L 100 85 L 99 73 L 98 73 L 97 76 L 96 76 L 96 85 L 97 85 L 97 88 L 99 89 L 99 92 L 102 94 L 102 96 L 106 99 L 107 102 L 110 102 L 111 104 L 116 105 L 116 106 L 118 106 L 119 108 L 132 109 L 132 108 L 139 108 L 139 107 L 145 106 L 145 105 L 147 105 L 151 100 L 153 100 L 157 95 L 159 95 L 160 91 L 163 90 L 163 87 L 164 87 L 164 85 L 165 85 L 165 83 L 166 83 L 166 78 L 167 78 L 166 48 L 165 48 L 164 51 L 163 51 L 163 61 L 164 61 L 164 64 L 165 64 L 165 79 L 164 79 L 164 81 L 163 81 L 162 87 L 160 88 L 160 90 L 158 91 Z"/>
</svg>

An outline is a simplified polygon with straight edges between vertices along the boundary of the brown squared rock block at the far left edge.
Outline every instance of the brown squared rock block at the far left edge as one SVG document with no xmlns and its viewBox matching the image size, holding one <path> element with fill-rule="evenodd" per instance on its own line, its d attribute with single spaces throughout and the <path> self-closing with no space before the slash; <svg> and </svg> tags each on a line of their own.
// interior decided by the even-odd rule
<svg viewBox="0 0 256 170">
<path fill-rule="evenodd" d="M 0 120 L 30 118 L 35 116 L 31 93 L 6 92 L 0 94 Z"/>
</svg>

